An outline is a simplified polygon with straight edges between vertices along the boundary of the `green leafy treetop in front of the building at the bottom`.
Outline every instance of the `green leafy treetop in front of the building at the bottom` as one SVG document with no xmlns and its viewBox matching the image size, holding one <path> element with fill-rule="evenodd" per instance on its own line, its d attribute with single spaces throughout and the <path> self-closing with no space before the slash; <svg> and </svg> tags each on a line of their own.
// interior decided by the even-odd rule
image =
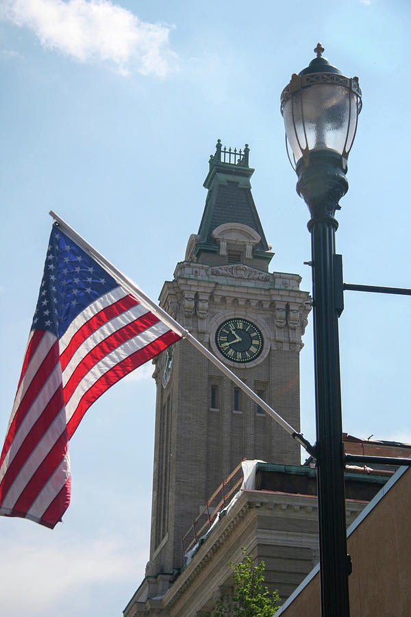
<svg viewBox="0 0 411 617">
<path fill-rule="evenodd" d="M 245 548 L 242 553 L 245 553 Z M 253 555 L 240 564 L 230 564 L 234 576 L 234 596 L 227 603 L 219 600 L 213 617 L 272 617 L 279 609 L 278 592 L 264 587 L 264 561 L 253 564 Z"/>
</svg>

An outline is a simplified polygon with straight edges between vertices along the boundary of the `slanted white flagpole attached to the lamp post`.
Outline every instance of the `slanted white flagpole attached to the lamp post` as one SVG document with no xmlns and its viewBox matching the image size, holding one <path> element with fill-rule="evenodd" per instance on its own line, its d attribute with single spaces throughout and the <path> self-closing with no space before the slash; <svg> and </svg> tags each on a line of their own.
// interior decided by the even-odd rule
<svg viewBox="0 0 411 617">
<path fill-rule="evenodd" d="M 176 322 L 175 319 L 173 319 L 173 317 L 169 315 L 169 313 L 166 313 L 166 311 L 164 311 L 161 306 L 158 306 L 158 304 L 156 304 L 154 300 L 151 300 L 151 298 L 147 294 L 145 294 L 144 291 L 142 291 L 142 289 L 140 289 L 140 287 L 138 287 L 138 285 L 136 285 L 133 280 L 125 276 L 123 272 L 121 272 L 112 263 L 110 263 L 108 259 L 106 259 L 101 253 L 99 253 L 97 249 L 95 249 L 95 247 L 89 244 L 82 236 L 77 234 L 77 232 L 71 226 L 69 226 L 69 224 L 66 223 L 64 219 L 59 217 L 55 212 L 53 212 L 53 210 L 50 210 L 49 215 L 56 221 L 56 223 L 58 223 L 58 226 L 69 237 L 71 237 L 73 241 L 75 241 L 75 243 L 82 247 L 82 249 L 88 255 L 92 256 L 92 258 L 94 258 L 106 271 L 108 271 L 108 273 L 111 274 L 117 282 L 119 282 L 119 285 L 124 287 L 124 289 L 129 291 L 129 293 L 131 293 L 132 295 L 136 296 L 136 298 L 141 302 L 142 306 L 145 306 L 146 309 L 149 309 L 149 311 L 154 313 L 156 317 L 158 317 L 162 322 L 164 322 L 164 324 L 169 326 L 171 330 L 176 332 L 183 339 L 186 339 L 186 341 L 190 341 L 190 343 L 195 346 L 195 348 L 199 350 L 199 352 L 201 352 L 203 356 L 206 356 L 206 358 L 208 358 L 210 362 L 212 362 L 217 368 L 219 368 L 221 372 L 223 372 L 227 377 L 229 377 L 229 379 L 231 379 L 236 385 L 238 385 L 238 387 L 242 389 L 245 394 L 247 394 L 254 402 L 260 405 L 260 407 L 264 409 L 264 411 L 266 411 L 266 413 L 268 413 L 271 418 L 273 418 L 273 420 L 277 422 L 277 424 L 282 426 L 282 428 L 284 428 L 284 430 L 287 431 L 287 433 L 291 435 L 291 437 L 296 439 L 296 441 L 299 442 L 300 446 L 302 446 L 308 452 L 308 454 L 315 456 L 314 446 L 312 446 L 312 444 L 310 444 L 310 442 L 305 437 L 303 437 L 302 433 L 298 433 L 297 431 L 295 431 L 295 428 L 292 428 L 292 426 L 288 424 L 288 422 L 286 422 L 286 420 L 284 420 L 284 418 L 282 418 L 279 413 L 274 411 L 269 406 L 269 404 L 262 400 L 260 396 L 258 396 L 253 390 L 251 390 L 251 388 L 249 388 L 244 382 L 242 382 L 242 380 L 238 376 L 236 376 L 236 374 L 229 370 L 229 368 L 225 366 L 223 362 L 221 362 L 216 356 L 214 356 L 214 354 L 212 354 L 206 347 L 204 347 L 203 344 L 200 343 L 200 341 L 193 337 L 192 334 L 188 332 L 188 330 L 180 326 L 180 324 Z"/>
</svg>

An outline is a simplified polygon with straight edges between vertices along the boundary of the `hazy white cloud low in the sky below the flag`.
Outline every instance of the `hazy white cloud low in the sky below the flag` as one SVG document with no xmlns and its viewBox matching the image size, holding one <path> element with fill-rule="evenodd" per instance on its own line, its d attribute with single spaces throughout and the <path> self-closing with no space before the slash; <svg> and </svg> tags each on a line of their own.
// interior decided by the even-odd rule
<svg viewBox="0 0 411 617">
<path fill-rule="evenodd" d="M 129 581 L 132 588 L 137 572 L 144 572 L 147 555 L 131 542 L 110 535 L 68 541 L 46 531 L 49 537 L 39 535 L 37 542 L 18 543 L 16 537 L 13 544 L 5 542 L 0 566 L 2 614 L 73 616 L 76 611 L 67 598 L 78 596 L 79 603 L 86 603 L 91 585 L 101 592 Z"/>
</svg>

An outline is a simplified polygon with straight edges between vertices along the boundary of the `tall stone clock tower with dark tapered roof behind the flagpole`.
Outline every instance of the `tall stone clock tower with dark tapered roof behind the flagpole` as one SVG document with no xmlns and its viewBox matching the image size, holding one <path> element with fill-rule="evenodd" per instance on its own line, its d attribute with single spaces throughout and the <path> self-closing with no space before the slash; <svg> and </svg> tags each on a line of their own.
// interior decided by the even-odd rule
<svg viewBox="0 0 411 617">
<path fill-rule="evenodd" d="M 297 274 L 273 257 L 251 195 L 249 147 L 210 157 L 206 206 L 160 304 L 299 430 L 299 352 L 310 311 Z M 184 563 L 181 538 L 243 458 L 299 465 L 299 445 L 187 341 L 153 361 L 157 386 L 151 549 L 163 584 Z"/>
</svg>

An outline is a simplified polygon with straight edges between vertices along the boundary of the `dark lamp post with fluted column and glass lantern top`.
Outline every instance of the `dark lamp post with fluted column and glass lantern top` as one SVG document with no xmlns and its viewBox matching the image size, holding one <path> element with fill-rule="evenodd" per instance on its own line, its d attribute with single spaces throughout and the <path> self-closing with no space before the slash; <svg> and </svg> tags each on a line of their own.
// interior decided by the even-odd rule
<svg viewBox="0 0 411 617">
<path fill-rule="evenodd" d="M 301 73 L 292 75 L 284 88 L 281 111 L 298 176 L 297 193 L 311 214 L 321 615 L 349 617 L 351 560 L 345 524 L 338 350 L 343 281 L 340 256 L 335 254 L 338 223 L 334 215 L 348 190 L 347 158 L 362 104 L 358 77 L 344 77 L 322 58 L 321 43 L 314 51 L 317 57 Z"/>
</svg>

